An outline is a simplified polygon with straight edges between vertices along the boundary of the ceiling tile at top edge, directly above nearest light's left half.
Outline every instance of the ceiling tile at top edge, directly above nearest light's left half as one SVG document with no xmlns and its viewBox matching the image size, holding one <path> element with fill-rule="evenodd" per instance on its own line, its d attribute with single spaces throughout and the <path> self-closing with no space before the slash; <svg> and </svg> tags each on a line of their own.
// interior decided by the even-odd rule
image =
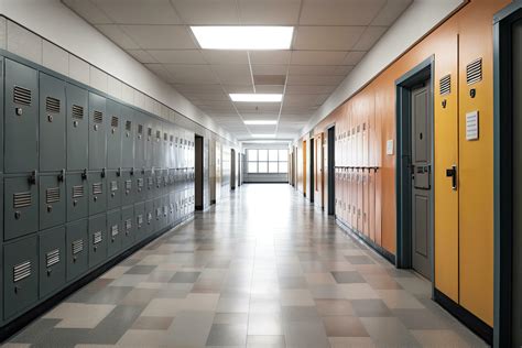
<svg viewBox="0 0 522 348">
<path fill-rule="evenodd" d="M 171 0 L 186 24 L 240 24 L 236 0 Z"/>
</svg>

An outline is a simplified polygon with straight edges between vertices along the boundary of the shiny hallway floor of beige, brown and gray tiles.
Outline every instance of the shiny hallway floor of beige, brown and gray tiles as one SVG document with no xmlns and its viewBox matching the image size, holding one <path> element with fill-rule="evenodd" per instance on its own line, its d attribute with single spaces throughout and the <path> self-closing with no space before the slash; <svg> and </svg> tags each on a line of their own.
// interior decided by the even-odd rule
<svg viewBox="0 0 522 348">
<path fill-rule="evenodd" d="M 291 187 L 246 185 L 7 346 L 485 346 L 429 292 Z"/>
</svg>

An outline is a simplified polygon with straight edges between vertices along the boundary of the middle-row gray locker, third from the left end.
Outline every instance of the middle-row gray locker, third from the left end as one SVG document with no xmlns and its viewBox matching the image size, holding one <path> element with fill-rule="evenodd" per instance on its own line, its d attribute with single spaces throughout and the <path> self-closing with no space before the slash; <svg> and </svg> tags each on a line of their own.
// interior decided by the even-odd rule
<svg viewBox="0 0 522 348">
<path fill-rule="evenodd" d="M 80 173 L 68 173 L 65 180 L 67 221 L 85 218 L 89 215 L 87 170 Z"/>
</svg>

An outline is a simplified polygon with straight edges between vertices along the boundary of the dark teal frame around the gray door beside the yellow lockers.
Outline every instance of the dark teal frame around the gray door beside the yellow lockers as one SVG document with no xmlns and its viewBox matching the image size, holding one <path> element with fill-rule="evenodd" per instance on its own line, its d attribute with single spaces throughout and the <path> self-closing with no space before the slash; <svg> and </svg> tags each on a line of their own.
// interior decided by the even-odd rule
<svg viewBox="0 0 522 348">
<path fill-rule="evenodd" d="M 432 166 L 429 175 L 429 184 L 432 187 L 432 195 L 429 199 L 431 221 L 429 221 L 429 263 L 431 263 L 431 282 L 432 294 L 434 292 L 434 231 L 435 231 L 435 185 L 434 185 L 434 68 L 435 57 L 423 61 L 413 69 L 401 76 L 395 80 L 396 90 L 396 175 L 395 175 L 395 192 L 396 192 L 396 258 L 395 265 L 399 269 L 411 269 L 413 267 L 412 258 L 412 177 L 411 177 L 411 154 L 412 154 L 412 110 L 411 110 L 411 95 L 412 87 L 429 79 L 429 122 L 432 131 Z"/>
</svg>

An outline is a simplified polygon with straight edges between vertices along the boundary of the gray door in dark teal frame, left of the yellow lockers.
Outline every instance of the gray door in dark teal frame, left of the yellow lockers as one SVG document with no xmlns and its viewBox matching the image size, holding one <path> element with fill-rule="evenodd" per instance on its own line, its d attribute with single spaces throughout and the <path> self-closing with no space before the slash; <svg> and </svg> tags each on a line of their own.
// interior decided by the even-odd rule
<svg viewBox="0 0 522 348">
<path fill-rule="evenodd" d="M 432 113 L 429 84 L 412 90 L 412 262 L 431 279 Z"/>
</svg>

